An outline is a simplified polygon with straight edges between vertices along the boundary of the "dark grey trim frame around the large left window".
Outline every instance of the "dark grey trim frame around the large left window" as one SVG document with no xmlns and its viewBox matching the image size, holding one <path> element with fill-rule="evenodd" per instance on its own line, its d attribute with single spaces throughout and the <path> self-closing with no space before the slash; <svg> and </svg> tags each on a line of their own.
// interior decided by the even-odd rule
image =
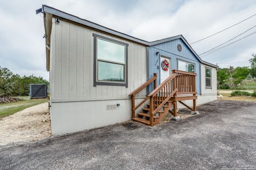
<svg viewBox="0 0 256 170">
<path fill-rule="evenodd" d="M 122 41 L 118 41 L 112 38 L 108 38 L 105 36 L 98 35 L 93 33 L 93 87 L 97 85 L 105 85 L 105 86 L 125 86 L 128 87 L 128 46 L 129 44 L 124 43 Z M 120 44 L 125 46 L 125 69 L 124 69 L 124 82 L 113 82 L 113 81 L 98 81 L 98 58 L 97 58 L 97 39 L 103 39 L 106 41 L 110 41 L 110 43 Z"/>
</svg>

